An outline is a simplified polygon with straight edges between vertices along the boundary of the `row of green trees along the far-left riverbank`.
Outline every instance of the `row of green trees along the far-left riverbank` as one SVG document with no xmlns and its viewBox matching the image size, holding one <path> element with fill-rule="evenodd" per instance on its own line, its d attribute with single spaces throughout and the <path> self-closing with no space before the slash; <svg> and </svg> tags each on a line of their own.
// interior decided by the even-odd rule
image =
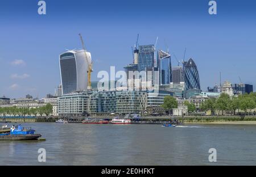
<svg viewBox="0 0 256 177">
<path fill-rule="evenodd" d="M 43 116 L 43 115 L 50 115 L 53 112 L 52 105 L 47 103 L 46 106 L 36 107 L 36 108 L 19 108 L 16 106 L 13 107 L 0 107 L 0 115 L 7 116 Z"/>
</svg>

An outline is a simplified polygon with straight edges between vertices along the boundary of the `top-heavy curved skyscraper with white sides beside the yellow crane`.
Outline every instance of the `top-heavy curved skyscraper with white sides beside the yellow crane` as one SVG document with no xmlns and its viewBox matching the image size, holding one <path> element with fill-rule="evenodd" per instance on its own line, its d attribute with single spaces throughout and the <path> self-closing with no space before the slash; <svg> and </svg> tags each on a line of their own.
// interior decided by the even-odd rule
<svg viewBox="0 0 256 177">
<path fill-rule="evenodd" d="M 89 52 L 86 56 L 91 62 Z M 84 50 L 69 50 L 60 54 L 59 59 L 62 93 L 86 90 L 88 64 Z"/>
</svg>

